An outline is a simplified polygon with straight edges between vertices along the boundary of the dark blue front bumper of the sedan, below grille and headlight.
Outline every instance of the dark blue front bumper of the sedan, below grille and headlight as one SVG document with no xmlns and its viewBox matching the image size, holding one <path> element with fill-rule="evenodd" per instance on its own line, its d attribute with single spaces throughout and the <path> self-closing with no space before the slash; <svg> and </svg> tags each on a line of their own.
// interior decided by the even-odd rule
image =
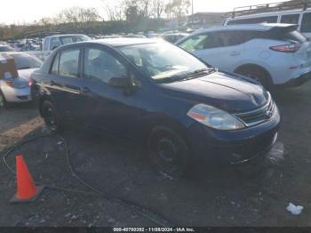
<svg viewBox="0 0 311 233">
<path fill-rule="evenodd" d="M 265 155 L 277 140 L 281 122 L 278 111 L 260 125 L 236 131 L 219 131 L 195 123 L 189 141 L 195 156 L 209 161 L 237 165 Z"/>
</svg>

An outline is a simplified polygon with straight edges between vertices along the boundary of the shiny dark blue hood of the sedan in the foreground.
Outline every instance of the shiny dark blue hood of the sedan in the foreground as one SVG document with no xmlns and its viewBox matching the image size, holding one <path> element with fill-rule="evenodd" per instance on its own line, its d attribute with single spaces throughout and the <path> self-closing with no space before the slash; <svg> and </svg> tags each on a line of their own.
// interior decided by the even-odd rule
<svg viewBox="0 0 311 233">
<path fill-rule="evenodd" d="M 268 92 L 259 84 L 243 76 L 222 72 L 159 85 L 167 94 L 209 104 L 231 113 L 259 108 L 268 99 Z"/>
</svg>

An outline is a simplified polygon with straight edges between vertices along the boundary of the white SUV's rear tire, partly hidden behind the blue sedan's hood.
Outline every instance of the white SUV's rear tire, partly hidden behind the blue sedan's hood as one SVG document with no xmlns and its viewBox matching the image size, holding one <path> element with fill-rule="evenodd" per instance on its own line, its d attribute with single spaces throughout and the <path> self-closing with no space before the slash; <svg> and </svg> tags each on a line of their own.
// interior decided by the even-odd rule
<svg viewBox="0 0 311 233">
<path fill-rule="evenodd" d="M 247 66 L 243 68 L 237 68 L 235 73 L 242 76 L 251 77 L 251 79 L 254 79 L 262 84 L 267 90 L 271 90 L 272 88 L 271 76 L 267 73 L 266 70 L 262 68 Z"/>
</svg>

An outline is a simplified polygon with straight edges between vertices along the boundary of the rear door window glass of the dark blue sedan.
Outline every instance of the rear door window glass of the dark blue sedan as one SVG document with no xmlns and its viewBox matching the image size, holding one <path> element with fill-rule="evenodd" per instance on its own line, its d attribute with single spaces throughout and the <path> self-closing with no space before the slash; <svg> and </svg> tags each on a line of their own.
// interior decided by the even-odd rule
<svg viewBox="0 0 311 233">
<path fill-rule="evenodd" d="M 80 49 L 60 53 L 60 76 L 79 76 L 79 55 Z"/>
</svg>

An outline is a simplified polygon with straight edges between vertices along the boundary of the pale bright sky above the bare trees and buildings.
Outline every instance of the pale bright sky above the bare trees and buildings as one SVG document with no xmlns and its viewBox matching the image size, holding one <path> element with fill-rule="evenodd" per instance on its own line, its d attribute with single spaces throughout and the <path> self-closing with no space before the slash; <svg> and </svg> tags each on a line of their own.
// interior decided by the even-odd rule
<svg viewBox="0 0 311 233">
<path fill-rule="evenodd" d="M 109 1 L 109 0 L 106 0 Z M 275 3 L 278 0 L 193 0 L 195 12 L 228 12 L 236 6 Z M 281 1 L 281 0 L 280 0 Z M 116 2 L 111 0 L 112 3 Z M 105 17 L 101 0 L 4 0 L 0 23 L 23 23 L 51 17 L 70 6 L 95 7 Z"/>
</svg>

